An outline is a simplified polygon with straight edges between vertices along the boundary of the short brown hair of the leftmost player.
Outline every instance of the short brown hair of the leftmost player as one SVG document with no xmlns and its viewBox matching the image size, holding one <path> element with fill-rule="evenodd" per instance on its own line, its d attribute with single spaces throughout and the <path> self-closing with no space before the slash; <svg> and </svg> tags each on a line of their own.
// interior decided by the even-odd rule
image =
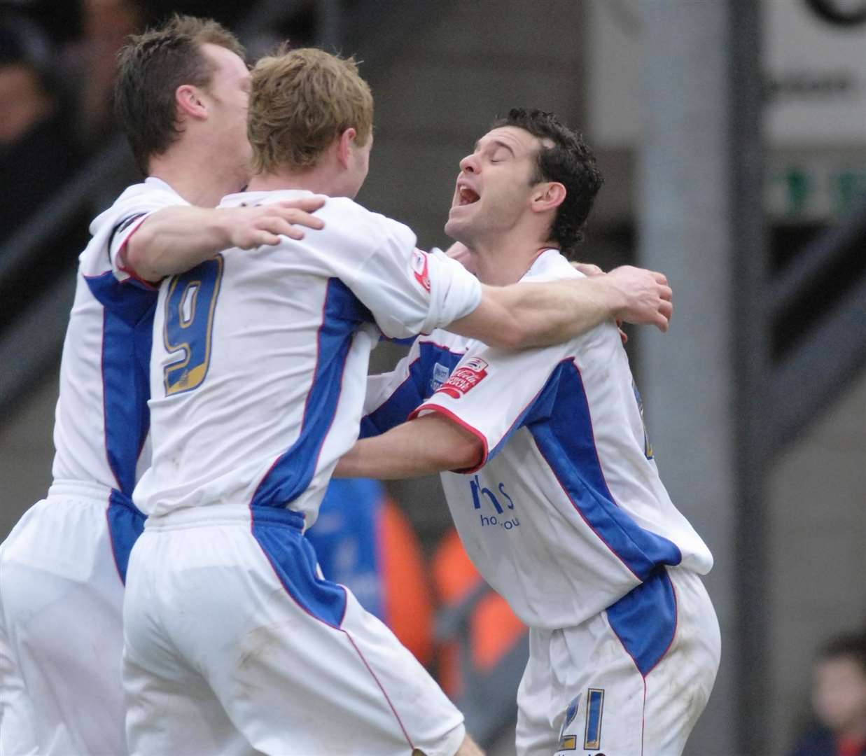
<svg viewBox="0 0 866 756">
<path fill-rule="evenodd" d="M 210 19 L 177 14 L 158 29 L 129 37 L 118 54 L 114 113 L 145 175 L 150 158 L 178 139 L 175 91 L 182 84 L 210 84 L 214 67 L 202 52 L 205 42 L 244 56 L 229 29 Z"/>
</svg>

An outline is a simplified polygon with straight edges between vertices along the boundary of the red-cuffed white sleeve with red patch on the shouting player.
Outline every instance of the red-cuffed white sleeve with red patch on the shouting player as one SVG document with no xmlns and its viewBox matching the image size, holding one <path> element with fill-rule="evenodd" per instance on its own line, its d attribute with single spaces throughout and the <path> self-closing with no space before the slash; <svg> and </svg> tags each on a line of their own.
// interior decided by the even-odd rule
<svg viewBox="0 0 866 756">
<path fill-rule="evenodd" d="M 538 416 L 546 387 L 559 365 L 571 359 L 569 353 L 567 343 L 523 352 L 492 347 L 470 351 L 410 419 L 439 412 L 477 436 L 484 448 L 481 462 L 460 471 L 475 472 L 527 418 Z"/>
</svg>

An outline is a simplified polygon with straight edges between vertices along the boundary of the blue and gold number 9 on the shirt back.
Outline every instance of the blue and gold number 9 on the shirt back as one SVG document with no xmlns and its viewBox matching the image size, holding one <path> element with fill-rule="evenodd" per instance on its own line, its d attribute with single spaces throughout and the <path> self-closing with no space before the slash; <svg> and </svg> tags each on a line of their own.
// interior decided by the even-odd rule
<svg viewBox="0 0 866 756">
<path fill-rule="evenodd" d="M 180 357 L 163 370 L 166 397 L 192 391 L 208 373 L 214 310 L 222 280 L 223 255 L 171 278 L 165 297 L 163 343 L 166 352 L 180 352 Z"/>
</svg>

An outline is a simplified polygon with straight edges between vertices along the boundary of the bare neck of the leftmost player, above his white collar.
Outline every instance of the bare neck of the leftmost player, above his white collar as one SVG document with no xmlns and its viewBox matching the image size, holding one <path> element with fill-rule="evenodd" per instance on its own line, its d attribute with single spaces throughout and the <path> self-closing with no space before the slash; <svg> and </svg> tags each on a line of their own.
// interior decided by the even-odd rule
<svg viewBox="0 0 866 756">
<path fill-rule="evenodd" d="M 196 207 L 216 207 L 225 195 L 241 191 L 246 183 L 239 166 L 200 160 L 191 152 L 170 151 L 152 158 L 148 172 Z"/>
</svg>

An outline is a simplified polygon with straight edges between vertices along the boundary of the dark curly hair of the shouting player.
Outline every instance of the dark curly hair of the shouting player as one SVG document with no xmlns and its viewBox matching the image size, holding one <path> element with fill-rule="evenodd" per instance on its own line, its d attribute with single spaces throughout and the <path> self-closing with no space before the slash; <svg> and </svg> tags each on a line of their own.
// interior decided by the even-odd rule
<svg viewBox="0 0 866 756">
<path fill-rule="evenodd" d="M 507 116 L 494 121 L 492 128 L 516 126 L 539 139 L 549 139 L 538 153 L 536 172 L 531 182 L 558 181 L 565 186 L 565 200 L 556 210 L 550 241 L 559 244 L 566 256 L 573 255 L 584 239 L 583 228 L 592 203 L 604 184 L 595 155 L 583 135 L 565 126 L 553 113 L 515 107 Z"/>
</svg>

